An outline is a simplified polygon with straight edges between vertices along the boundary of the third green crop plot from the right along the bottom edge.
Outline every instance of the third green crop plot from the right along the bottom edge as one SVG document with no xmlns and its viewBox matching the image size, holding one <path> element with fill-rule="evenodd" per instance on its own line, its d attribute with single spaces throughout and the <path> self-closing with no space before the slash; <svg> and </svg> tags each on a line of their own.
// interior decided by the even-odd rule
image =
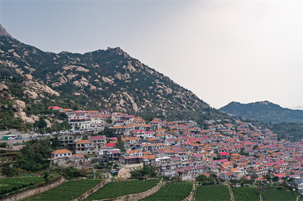
<svg viewBox="0 0 303 201">
<path fill-rule="evenodd" d="M 230 192 L 227 185 L 199 185 L 195 201 L 229 201 Z"/>
</svg>

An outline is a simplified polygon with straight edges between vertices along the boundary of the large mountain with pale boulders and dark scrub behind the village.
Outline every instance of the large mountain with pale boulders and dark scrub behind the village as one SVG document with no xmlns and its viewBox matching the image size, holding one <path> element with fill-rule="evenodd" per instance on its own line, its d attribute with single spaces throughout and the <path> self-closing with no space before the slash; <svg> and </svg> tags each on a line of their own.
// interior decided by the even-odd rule
<svg viewBox="0 0 303 201">
<path fill-rule="evenodd" d="M 84 54 L 44 52 L 14 39 L 2 26 L 0 44 L 0 76 L 10 90 L 4 92 L 10 101 L 23 101 L 27 106 L 18 108 L 27 115 L 38 112 L 41 105 L 161 114 L 201 111 L 204 115 L 211 108 L 119 47 Z M 10 104 L 17 107 L 16 102 Z M 210 114 L 222 115 L 215 109 Z"/>
</svg>

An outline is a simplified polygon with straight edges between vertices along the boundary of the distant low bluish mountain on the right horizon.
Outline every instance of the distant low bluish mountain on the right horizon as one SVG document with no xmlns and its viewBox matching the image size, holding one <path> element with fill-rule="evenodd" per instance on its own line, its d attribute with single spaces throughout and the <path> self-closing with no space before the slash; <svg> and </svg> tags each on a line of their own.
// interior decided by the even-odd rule
<svg viewBox="0 0 303 201">
<path fill-rule="evenodd" d="M 292 110 L 283 108 L 269 101 L 255 102 L 242 104 L 231 102 L 228 105 L 221 107 L 220 111 L 236 114 L 237 116 L 258 120 L 261 122 L 292 122 L 301 123 L 303 121 L 302 110 Z"/>
</svg>

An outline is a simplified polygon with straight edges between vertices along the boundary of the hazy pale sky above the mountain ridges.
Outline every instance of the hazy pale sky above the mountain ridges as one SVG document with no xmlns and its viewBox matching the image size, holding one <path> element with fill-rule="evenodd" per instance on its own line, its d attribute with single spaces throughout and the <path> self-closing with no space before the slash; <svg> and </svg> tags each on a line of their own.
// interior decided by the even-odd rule
<svg viewBox="0 0 303 201">
<path fill-rule="evenodd" d="M 212 107 L 303 106 L 302 1 L 1 1 L 0 23 L 44 51 L 121 47 Z"/>
</svg>

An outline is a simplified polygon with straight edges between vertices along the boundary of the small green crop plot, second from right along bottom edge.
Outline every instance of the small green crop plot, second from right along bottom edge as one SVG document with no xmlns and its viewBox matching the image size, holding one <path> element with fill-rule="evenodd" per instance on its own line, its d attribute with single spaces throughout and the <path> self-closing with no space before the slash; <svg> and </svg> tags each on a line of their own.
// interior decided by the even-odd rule
<svg viewBox="0 0 303 201">
<path fill-rule="evenodd" d="M 232 187 L 235 201 L 260 201 L 257 187 Z"/>
</svg>

